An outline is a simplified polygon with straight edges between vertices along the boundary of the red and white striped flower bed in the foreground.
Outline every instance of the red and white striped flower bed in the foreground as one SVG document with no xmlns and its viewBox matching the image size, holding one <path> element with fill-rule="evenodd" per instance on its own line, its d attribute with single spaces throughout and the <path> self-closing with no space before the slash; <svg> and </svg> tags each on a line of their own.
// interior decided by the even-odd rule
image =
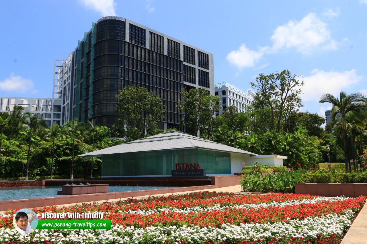
<svg viewBox="0 0 367 244">
<path fill-rule="evenodd" d="M 19 234 L 8 211 L 0 243 L 340 243 L 365 197 L 198 192 L 117 203 L 44 207 L 42 212 L 105 212 L 111 230 L 35 230 Z M 40 216 L 39 216 L 39 219 Z"/>
</svg>

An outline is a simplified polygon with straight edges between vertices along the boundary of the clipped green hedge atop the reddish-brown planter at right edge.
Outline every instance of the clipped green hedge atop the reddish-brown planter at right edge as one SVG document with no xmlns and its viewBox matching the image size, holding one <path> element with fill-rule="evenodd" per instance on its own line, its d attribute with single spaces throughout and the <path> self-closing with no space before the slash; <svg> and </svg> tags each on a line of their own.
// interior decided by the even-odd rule
<svg viewBox="0 0 367 244">
<path fill-rule="evenodd" d="M 367 183 L 367 171 L 362 173 L 309 173 L 302 174 L 305 183 Z"/>
</svg>

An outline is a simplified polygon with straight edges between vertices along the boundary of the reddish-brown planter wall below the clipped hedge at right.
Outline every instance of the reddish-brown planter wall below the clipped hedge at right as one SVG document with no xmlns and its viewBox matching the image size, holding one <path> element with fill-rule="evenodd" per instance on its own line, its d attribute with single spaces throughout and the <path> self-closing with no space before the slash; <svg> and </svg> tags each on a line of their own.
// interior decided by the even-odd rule
<svg viewBox="0 0 367 244">
<path fill-rule="evenodd" d="M 367 183 L 295 183 L 296 194 L 319 196 L 367 196 Z"/>
</svg>

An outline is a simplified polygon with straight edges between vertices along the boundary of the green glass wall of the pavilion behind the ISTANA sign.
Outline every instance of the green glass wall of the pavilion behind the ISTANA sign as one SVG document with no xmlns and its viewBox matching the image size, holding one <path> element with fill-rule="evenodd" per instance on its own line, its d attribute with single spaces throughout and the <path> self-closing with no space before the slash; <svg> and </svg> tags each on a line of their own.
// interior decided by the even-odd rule
<svg viewBox="0 0 367 244">
<path fill-rule="evenodd" d="M 105 155 L 102 177 L 171 175 L 176 163 L 200 163 L 206 174 L 230 174 L 230 153 L 202 149 Z"/>
</svg>

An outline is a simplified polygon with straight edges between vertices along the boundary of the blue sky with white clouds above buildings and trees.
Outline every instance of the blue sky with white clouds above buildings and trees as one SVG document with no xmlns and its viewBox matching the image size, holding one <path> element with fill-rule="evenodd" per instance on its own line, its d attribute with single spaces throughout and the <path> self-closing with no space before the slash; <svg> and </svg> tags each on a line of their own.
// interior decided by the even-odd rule
<svg viewBox="0 0 367 244">
<path fill-rule="evenodd" d="M 12 0 L 0 2 L 0 96 L 51 97 L 54 59 L 109 15 L 213 53 L 215 83 L 302 75 L 300 111 L 324 116 L 322 94 L 367 92 L 367 0 Z"/>
</svg>

